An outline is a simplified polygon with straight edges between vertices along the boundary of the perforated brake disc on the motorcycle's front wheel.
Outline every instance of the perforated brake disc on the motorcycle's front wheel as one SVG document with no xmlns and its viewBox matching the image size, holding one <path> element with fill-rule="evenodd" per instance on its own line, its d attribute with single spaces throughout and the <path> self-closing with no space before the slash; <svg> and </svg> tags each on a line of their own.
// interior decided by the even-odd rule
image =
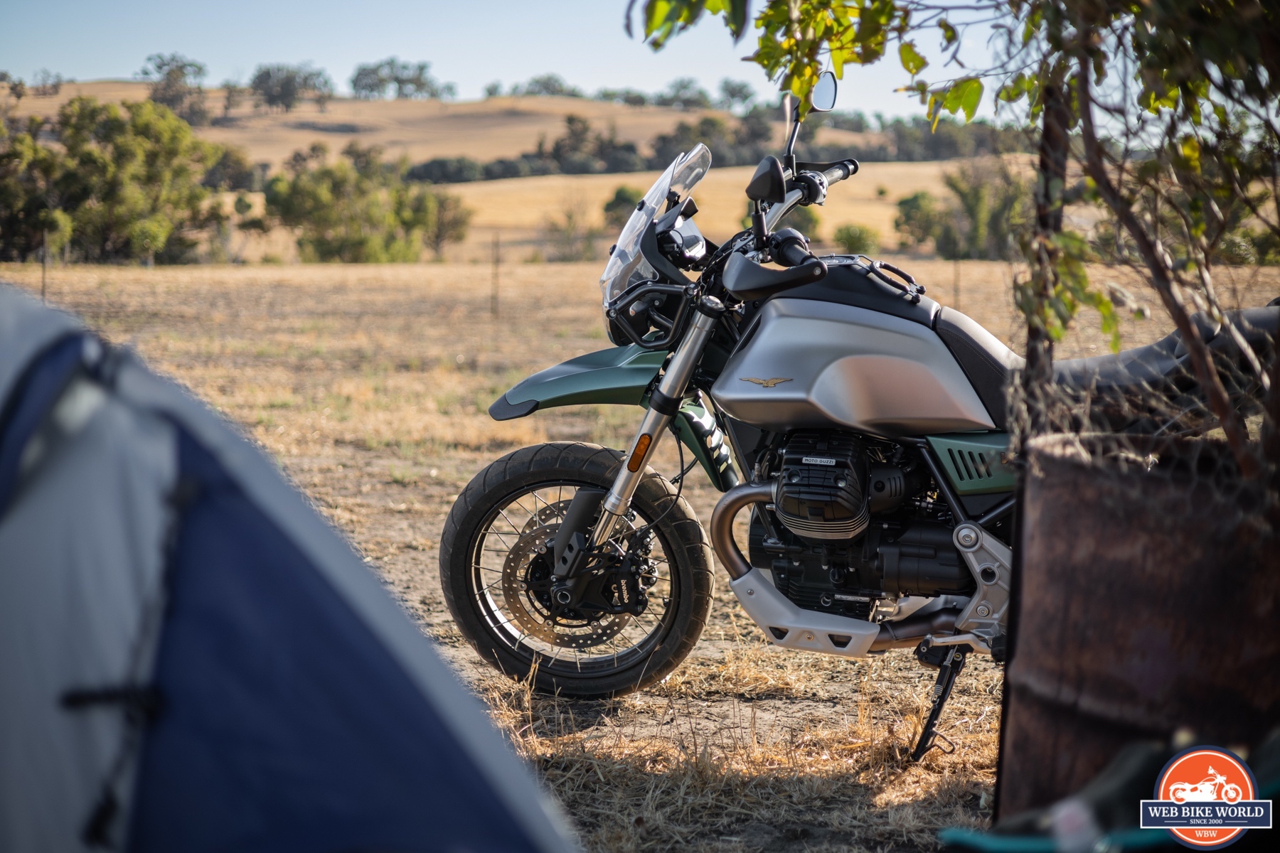
<svg viewBox="0 0 1280 853">
<path fill-rule="evenodd" d="M 631 616 L 593 614 L 582 619 L 552 618 L 550 609 L 536 595 L 536 587 L 544 584 L 531 575 L 534 558 L 545 554 L 544 549 L 549 550 L 558 529 L 558 523 L 541 524 L 521 535 L 502 565 L 502 597 L 508 615 L 530 637 L 559 648 L 593 648 L 617 637 Z M 545 586 L 549 588 L 549 582 Z"/>
</svg>

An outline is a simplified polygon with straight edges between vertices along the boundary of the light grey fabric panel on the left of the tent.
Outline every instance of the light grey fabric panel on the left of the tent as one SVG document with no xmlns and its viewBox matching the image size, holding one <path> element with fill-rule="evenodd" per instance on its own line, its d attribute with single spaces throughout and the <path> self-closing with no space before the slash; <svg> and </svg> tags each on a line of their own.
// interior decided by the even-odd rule
<svg viewBox="0 0 1280 853">
<path fill-rule="evenodd" d="M 46 354 L 45 366 L 63 367 L 65 350 Z M 38 366 L 32 375 L 51 376 Z M 45 396 L 38 386 L 28 389 Z M 67 710 L 63 697 L 128 683 L 150 669 L 154 637 L 145 636 L 145 614 L 159 605 L 168 529 L 160 497 L 175 476 L 173 427 L 164 419 L 83 380 L 65 387 L 58 405 L 49 403 L 51 423 L 28 436 L 46 445 L 45 458 L 31 463 L 32 476 L 17 483 L 0 518 L 4 850 L 81 847 L 127 724 L 111 707 Z"/>
</svg>

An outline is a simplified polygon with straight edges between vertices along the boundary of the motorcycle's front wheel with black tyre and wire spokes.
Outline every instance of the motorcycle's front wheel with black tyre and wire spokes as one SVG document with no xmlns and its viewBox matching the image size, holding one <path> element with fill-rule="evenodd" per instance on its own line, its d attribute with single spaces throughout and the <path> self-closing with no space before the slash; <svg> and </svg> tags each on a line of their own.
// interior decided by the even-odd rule
<svg viewBox="0 0 1280 853">
<path fill-rule="evenodd" d="M 507 454 L 477 473 L 440 537 L 440 584 L 458 629 L 515 679 L 577 698 L 628 693 L 660 680 L 698 642 L 712 596 L 712 551 L 676 489 L 649 472 L 620 524 L 644 526 L 640 614 L 564 614 L 545 596 L 545 551 L 579 489 L 609 489 L 622 454 L 556 442 Z"/>
</svg>

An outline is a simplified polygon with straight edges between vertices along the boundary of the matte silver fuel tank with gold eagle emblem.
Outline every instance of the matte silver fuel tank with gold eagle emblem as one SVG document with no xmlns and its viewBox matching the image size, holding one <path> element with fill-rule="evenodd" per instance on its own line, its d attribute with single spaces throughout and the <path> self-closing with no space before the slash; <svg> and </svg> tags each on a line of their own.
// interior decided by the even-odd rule
<svg viewBox="0 0 1280 853">
<path fill-rule="evenodd" d="M 817 299 L 767 302 L 712 399 L 730 417 L 774 432 L 845 427 L 900 437 L 995 428 L 929 326 Z"/>
</svg>

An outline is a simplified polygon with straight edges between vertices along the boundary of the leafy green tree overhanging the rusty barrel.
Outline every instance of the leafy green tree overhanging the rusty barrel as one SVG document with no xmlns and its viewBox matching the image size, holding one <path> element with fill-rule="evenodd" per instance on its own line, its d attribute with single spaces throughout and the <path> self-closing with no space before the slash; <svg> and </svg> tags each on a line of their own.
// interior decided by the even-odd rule
<svg viewBox="0 0 1280 853">
<path fill-rule="evenodd" d="M 627 6 L 631 27 L 636 0 Z M 979 0 L 964 6 L 908 0 L 772 0 L 749 22 L 745 0 L 646 0 L 644 37 L 660 49 L 704 15 L 721 17 L 733 38 L 759 31 L 751 59 L 781 88 L 805 98 L 829 65 L 878 61 L 896 43 L 910 87 L 929 118 L 972 120 L 987 91 L 1018 105 L 1037 134 L 1034 215 L 1020 238 L 1030 275 L 1016 284 L 1027 317 L 1021 393 L 1024 432 L 1052 428 L 1036 399 L 1052 385 L 1053 341 L 1076 308 L 1092 304 L 1119 347 L 1114 306 L 1089 283 L 1087 240 L 1064 228 L 1070 200 L 1100 203 L 1133 247 L 1187 347 L 1210 409 L 1245 477 L 1270 477 L 1280 492 L 1280 359 L 1270 376 L 1236 341 L 1254 381 L 1268 387 L 1263 436 L 1249 441 L 1243 417 L 1211 362 L 1189 306 L 1220 320 L 1213 251 L 1231 234 L 1231 208 L 1280 239 L 1280 10 L 1261 0 Z M 918 36 L 940 36 L 959 59 L 968 26 L 1004 40 L 984 69 L 928 83 Z M 1075 137 L 1076 141 L 1073 141 Z M 1069 164 L 1088 176 L 1068 187 Z M 1265 192 L 1260 192 L 1258 188 Z M 1171 214 L 1171 216 L 1169 215 Z M 1236 334 L 1236 333 L 1230 333 Z M 1280 519 L 1280 501 L 1272 501 Z"/>
</svg>

